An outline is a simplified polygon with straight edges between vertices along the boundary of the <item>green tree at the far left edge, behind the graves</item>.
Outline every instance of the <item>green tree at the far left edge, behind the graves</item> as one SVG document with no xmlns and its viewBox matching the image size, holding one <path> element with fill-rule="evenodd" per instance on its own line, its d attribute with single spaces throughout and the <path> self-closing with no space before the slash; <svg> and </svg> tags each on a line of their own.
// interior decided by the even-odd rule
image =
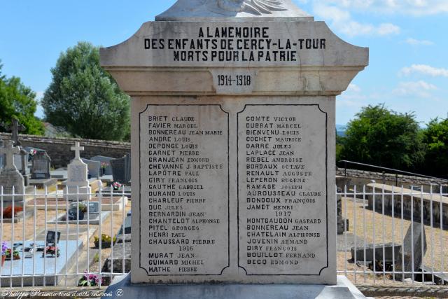
<svg viewBox="0 0 448 299">
<path fill-rule="evenodd" d="M 1 61 L 0 61 L 1 62 Z M 36 93 L 18 77 L 6 78 L 1 74 L 0 63 L 0 123 L 10 125 L 17 118 L 25 126 L 24 134 L 43 134 L 43 125 L 34 116 L 37 109 Z"/>
</svg>

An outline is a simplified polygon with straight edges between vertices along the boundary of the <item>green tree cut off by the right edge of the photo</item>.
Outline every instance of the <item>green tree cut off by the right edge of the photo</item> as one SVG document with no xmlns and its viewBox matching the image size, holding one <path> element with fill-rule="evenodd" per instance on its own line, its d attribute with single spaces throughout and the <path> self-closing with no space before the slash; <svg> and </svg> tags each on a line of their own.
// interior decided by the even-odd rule
<svg viewBox="0 0 448 299">
<path fill-rule="evenodd" d="M 448 177 L 448 118 L 435 118 L 423 132 L 426 144 L 425 171 L 433 176 Z"/>
</svg>

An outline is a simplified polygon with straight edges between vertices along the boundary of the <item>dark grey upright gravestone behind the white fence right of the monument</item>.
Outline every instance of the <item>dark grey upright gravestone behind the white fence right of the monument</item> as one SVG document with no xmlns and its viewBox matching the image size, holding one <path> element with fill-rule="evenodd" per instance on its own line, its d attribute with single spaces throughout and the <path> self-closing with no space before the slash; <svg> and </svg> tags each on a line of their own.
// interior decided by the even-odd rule
<svg viewBox="0 0 448 299">
<path fill-rule="evenodd" d="M 414 223 L 409 226 L 400 252 L 398 253 L 398 259 L 395 263 L 395 273 L 419 271 L 427 249 L 424 225 L 423 235 L 421 232 L 421 223 L 414 221 Z M 404 277 L 412 278 L 412 273 L 406 273 L 404 274 Z"/>
</svg>

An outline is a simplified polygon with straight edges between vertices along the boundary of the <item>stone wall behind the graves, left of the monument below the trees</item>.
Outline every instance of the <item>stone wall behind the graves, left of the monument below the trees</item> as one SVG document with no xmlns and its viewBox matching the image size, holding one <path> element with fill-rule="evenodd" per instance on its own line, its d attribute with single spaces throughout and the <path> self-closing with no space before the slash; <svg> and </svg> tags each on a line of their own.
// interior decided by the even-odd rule
<svg viewBox="0 0 448 299">
<path fill-rule="evenodd" d="M 0 139 L 9 140 L 10 134 L 0 133 Z M 51 158 L 51 166 L 66 167 L 71 159 L 74 158 L 74 152 L 70 150 L 75 141 L 80 141 L 85 151 L 81 152 L 81 158 L 90 159 L 95 155 L 104 155 L 111 158 L 121 158 L 125 153 L 130 153 L 131 144 L 116 141 L 76 139 L 76 138 L 50 138 L 34 135 L 20 135 L 22 146 L 41 148 L 47 151 Z"/>
</svg>

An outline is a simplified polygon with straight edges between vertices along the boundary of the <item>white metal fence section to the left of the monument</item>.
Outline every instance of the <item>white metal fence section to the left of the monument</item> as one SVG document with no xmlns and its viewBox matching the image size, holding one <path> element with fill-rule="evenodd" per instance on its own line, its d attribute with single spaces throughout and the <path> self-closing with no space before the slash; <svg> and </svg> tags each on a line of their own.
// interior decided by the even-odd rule
<svg viewBox="0 0 448 299">
<path fill-rule="evenodd" d="M 99 188 L 97 193 L 91 194 L 91 198 L 83 200 L 85 196 L 79 189 L 72 194 L 67 194 L 66 189 L 48 188 L 41 192 L 34 188 L 31 194 L 17 194 L 14 190 L 6 194 L 0 188 L 0 244 L 6 242 L 9 249 L 15 247 L 20 256 L 18 260 L 6 260 L 0 267 L 0 287 L 76 286 L 82 277 L 96 281 L 101 286 L 104 284 L 103 279 L 126 272 L 125 249 L 130 243 L 126 243 L 129 239 L 125 239 L 124 225 L 123 233 L 116 240 L 112 239 L 107 253 L 103 248 L 107 242 L 102 242 L 101 236 L 117 235 L 120 225 L 125 223 L 127 211 L 130 210 L 127 202 L 130 194 L 125 193 L 124 187 L 107 193 Z M 76 220 L 69 221 L 69 207 L 73 202 L 76 205 L 85 204 L 85 220 L 80 219 L 82 217 L 78 211 Z M 97 211 L 91 211 L 92 202 L 99 202 Z M 15 211 L 10 218 L 3 215 L 8 206 L 11 211 Z M 52 245 L 47 239 L 48 232 L 61 234 L 55 244 L 56 251 L 59 249 L 59 256 L 43 252 L 51 249 L 48 248 Z M 94 236 L 99 237 L 97 248 L 94 246 Z M 120 246 L 120 242 L 123 247 L 120 263 L 122 267 L 113 272 L 113 263 L 120 262 L 113 256 L 117 252 L 113 247 Z M 109 271 L 103 268 L 107 258 L 112 264 Z"/>
</svg>

